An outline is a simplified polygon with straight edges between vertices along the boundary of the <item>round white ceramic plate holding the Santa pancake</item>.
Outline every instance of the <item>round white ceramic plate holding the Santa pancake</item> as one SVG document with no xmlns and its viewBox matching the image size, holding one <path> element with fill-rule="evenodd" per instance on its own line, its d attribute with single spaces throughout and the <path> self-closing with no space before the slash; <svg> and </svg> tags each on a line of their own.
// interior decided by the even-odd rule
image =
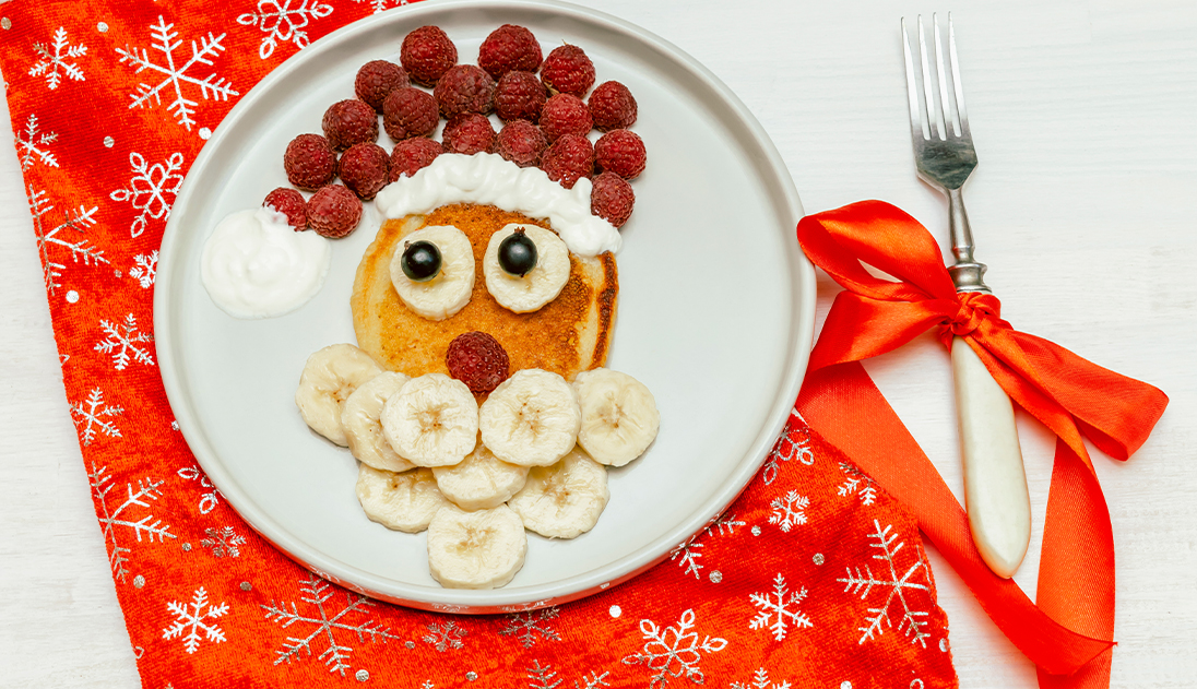
<svg viewBox="0 0 1197 689">
<path fill-rule="evenodd" d="M 293 395 L 308 355 L 354 342 L 353 276 L 375 227 L 334 245 L 323 291 L 279 318 L 238 321 L 200 282 L 205 238 L 226 214 L 286 184 L 282 151 L 320 132 L 353 96 L 358 67 L 399 61 L 402 37 L 442 26 L 462 62 L 504 23 L 545 51 L 569 42 L 598 81 L 626 84 L 649 151 L 624 227 L 608 366 L 656 396 L 661 433 L 612 470 L 610 502 L 575 541 L 529 533 L 523 569 L 493 591 L 442 589 L 424 535 L 371 523 L 354 496 L 348 451 L 308 429 Z M 390 147 L 385 134 L 379 144 Z M 370 596 L 432 610 L 498 612 L 561 603 L 644 571 L 727 507 L 760 467 L 806 370 L 814 273 L 794 227 L 794 182 L 743 104 L 692 57 L 625 22 L 558 2 L 435 1 L 357 22 L 308 47 L 225 117 L 171 211 L 154 294 L 163 379 L 192 451 L 242 517 L 316 573 Z"/>
</svg>

